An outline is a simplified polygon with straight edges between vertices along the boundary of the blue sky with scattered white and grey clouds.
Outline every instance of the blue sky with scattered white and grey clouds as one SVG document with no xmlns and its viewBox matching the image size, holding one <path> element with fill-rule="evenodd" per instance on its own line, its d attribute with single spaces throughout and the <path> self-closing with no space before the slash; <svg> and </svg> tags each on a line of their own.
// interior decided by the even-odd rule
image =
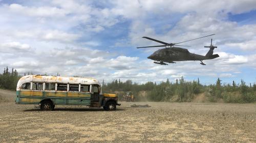
<svg viewBox="0 0 256 143">
<path fill-rule="evenodd" d="M 191 53 L 218 46 L 220 57 L 167 66 L 147 56 L 159 45 L 185 43 Z M 256 82 L 256 1 L 1 1 L 0 70 L 145 83 L 200 79 L 203 84 Z"/>
</svg>

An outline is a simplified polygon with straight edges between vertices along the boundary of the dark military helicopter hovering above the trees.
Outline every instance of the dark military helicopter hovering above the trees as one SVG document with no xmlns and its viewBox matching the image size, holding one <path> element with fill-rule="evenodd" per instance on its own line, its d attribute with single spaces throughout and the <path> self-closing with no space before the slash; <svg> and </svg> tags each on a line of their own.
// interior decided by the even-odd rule
<svg viewBox="0 0 256 143">
<path fill-rule="evenodd" d="M 212 34 L 212 35 L 215 35 L 215 34 Z M 207 35 L 204 37 L 208 37 L 212 35 Z M 204 38 L 204 37 L 200 37 L 200 38 Z M 155 64 L 168 65 L 166 63 L 176 63 L 174 61 L 200 61 L 201 65 L 206 65 L 203 63 L 203 60 L 211 60 L 219 57 L 218 54 L 213 54 L 214 49 L 217 48 L 217 46 L 212 45 L 212 39 L 210 42 L 210 46 L 204 46 L 204 47 L 210 48 L 209 51 L 206 53 L 206 55 L 199 55 L 195 53 L 190 53 L 185 48 L 174 47 L 174 46 L 185 46 L 185 45 L 177 45 L 177 44 L 200 39 L 200 38 L 191 39 L 191 40 L 187 40 L 179 43 L 166 43 L 166 42 L 159 41 L 149 37 L 142 37 L 142 38 L 164 44 L 164 45 L 157 45 L 157 46 L 137 47 L 137 48 L 165 47 L 163 49 L 159 49 L 155 51 L 153 54 L 147 57 L 148 59 L 154 60 Z M 190 47 L 190 46 L 186 46 L 186 47 Z"/>
</svg>

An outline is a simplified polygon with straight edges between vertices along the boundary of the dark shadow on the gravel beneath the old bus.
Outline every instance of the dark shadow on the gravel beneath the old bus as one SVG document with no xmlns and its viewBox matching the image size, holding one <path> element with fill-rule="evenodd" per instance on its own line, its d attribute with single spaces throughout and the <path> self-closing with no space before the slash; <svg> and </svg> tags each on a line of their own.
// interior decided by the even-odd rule
<svg viewBox="0 0 256 143">
<path fill-rule="evenodd" d="M 123 111 L 126 109 L 116 109 L 115 111 Z M 40 109 L 27 109 L 27 111 L 41 111 Z M 55 108 L 53 111 L 105 111 L 104 109 L 99 108 Z"/>
</svg>

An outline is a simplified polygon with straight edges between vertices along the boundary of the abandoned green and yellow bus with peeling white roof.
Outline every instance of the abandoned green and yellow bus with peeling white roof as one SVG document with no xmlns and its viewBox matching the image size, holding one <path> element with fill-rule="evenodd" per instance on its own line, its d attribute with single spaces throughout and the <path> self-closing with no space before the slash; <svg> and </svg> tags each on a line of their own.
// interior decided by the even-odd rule
<svg viewBox="0 0 256 143">
<path fill-rule="evenodd" d="M 39 104 L 41 110 L 53 110 L 55 105 L 86 105 L 115 110 L 117 95 L 102 94 L 96 79 L 27 75 L 19 79 L 16 104 Z"/>
</svg>

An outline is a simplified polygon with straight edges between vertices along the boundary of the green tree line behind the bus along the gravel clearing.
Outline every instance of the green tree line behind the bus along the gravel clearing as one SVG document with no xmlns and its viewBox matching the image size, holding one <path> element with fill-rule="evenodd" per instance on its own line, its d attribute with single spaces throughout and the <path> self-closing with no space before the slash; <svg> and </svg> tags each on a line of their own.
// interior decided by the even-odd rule
<svg viewBox="0 0 256 143">
<path fill-rule="evenodd" d="M 28 73 L 32 74 L 31 73 Z M 26 74 L 24 74 L 26 75 Z M 0 88 L 16 90 L 16 85 L 21 76 L 15 69 L 9 71 L 6 67 L 0 74 Z M 105 83 L 102 81 L 103 93 L 122 93 L 131 91 L 139 101 L 142 99 L 140 92 L 146 93 L 148 101 L 166 101 L 166 102 L 190 102 L 197 95 L 204 94 L 210 102 L 223 100 L 224 102 L 248 103 L 256 102 L 256 84 L 247 85 L 243 79 L 240 83 L 232 81 L 232 84 L 223 84 L 218 78 L 215 84 L 203 85 L 200 80 L 186 81 L 183 77 L 176 79 L 176 82 L 170 82 L 169 79 L 160 83 L 148 81 L 138 84 L 132 80 L 125 82 L 113 80 Z M 121 97 L 122 95 L 119 95 Z"/>
</svg>

